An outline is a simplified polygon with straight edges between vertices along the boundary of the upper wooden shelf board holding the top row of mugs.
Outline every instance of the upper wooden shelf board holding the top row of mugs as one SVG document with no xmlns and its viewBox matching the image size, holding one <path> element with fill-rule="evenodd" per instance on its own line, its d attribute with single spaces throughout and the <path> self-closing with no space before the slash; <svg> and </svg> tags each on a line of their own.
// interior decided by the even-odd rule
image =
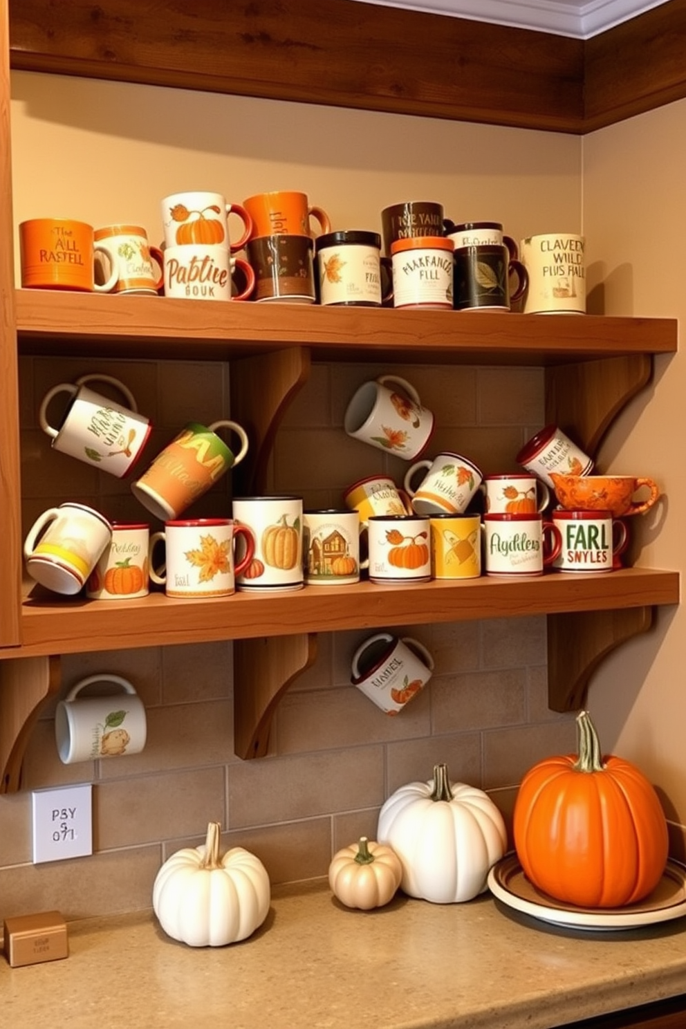
<svg viewBox="0 0 686 1029">
<path fill-rule="evenodd" d="M 677 350 L 677 321 L 602 315 L 394 311 L 15 290 L 25 354 L 223 360 L 305 346 L 319 360 L 568 364 Z"/>
</svg>

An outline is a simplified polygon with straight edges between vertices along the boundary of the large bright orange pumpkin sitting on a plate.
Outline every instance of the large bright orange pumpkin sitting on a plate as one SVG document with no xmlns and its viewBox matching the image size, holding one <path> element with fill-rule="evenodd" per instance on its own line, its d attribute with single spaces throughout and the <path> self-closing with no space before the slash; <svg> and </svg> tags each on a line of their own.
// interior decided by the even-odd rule
<svg viewBox="0 0 686 1029">
<path fill-rule="evenodd" d="M 548 757 L 523 777 L 514 805 L 517 857 L 528 879 L 564 903 L 635 903 L 666 864 L 664 813 L 635 765 L 602 758 L 587 711 L 577 729 L 578 755 Z"/>
</svg>

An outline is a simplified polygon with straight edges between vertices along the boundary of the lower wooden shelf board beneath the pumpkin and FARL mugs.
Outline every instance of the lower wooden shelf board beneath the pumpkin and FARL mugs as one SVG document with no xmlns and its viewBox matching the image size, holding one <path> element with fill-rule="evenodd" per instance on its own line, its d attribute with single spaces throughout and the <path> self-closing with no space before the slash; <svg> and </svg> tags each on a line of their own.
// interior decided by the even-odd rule
<svg viewBox="0 0 686 1029">
<path fill-rule="evenodd" d="M 607 575 L 552 572 L 517 582 L 488 576 L 459 583 L 360 582 L 211 601 L 160 593 L 108 602 L 44 597 L 25 600 L 24 644 L 0 658 L 678 604 L 679 573 L 626 568 Z"/>
</svg>

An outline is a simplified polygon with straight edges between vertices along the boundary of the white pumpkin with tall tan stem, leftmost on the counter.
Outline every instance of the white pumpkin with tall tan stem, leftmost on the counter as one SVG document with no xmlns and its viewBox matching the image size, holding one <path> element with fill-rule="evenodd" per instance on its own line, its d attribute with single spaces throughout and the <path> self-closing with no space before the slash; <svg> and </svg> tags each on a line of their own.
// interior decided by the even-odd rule
<svg viewBox="0 0 686 1029">
<path fill-rule="evenodd" d="M 258 857 L 233 847 L 219 857 L 219 823 L 202 847 L 184 847 L 165 861 L 152 887 L 152 908 L 165 932 L 189 947 L 245 939 L 269 910 L 269 877 Z"/>
</svg>

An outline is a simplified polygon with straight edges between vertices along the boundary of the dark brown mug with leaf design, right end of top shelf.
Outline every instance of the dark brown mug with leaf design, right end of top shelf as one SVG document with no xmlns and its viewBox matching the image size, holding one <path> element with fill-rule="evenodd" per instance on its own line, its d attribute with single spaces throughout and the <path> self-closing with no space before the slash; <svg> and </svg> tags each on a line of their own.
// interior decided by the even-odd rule
<svg viewBox="0 0 686 1029">
<path fill-rule="evenodd" d="M 455 251 L 456 311 L 509 311 L 527 288 L 527 270 L 504 245 L 461 247 Z M 510 290 L 510 280 L 516 286 Z"/>
</svg>

